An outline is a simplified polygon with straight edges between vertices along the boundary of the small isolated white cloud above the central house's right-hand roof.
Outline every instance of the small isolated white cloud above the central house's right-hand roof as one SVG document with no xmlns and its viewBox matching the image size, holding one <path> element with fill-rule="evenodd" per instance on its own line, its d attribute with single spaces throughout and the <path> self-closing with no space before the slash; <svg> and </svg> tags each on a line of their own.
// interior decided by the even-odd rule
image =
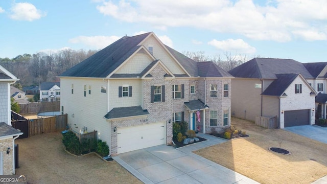
<svg viewBox="0 0 327 184">
<path fill-rule="evenodd" d="M 208 44 L 226 52 L 236 52 L 242 54 L 251 54 L 256 52 L 256 49 L 254 47 L 252 47 L 242 39 L 227 39 L 223 41 L 218 41 L 214 39 L 209 41 Z"/>
</svg>

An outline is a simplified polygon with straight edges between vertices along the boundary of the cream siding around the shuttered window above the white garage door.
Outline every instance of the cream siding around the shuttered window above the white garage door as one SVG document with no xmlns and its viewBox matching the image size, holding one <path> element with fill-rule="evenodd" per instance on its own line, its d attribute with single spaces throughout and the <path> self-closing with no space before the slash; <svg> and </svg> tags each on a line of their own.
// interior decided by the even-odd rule
<svg viewBox="0 0 327 184">
<path fill-rule="evenodd" d="M 133 80 L 113 80 L 109 81 L 109 111 L 115 107 L 133 107 L 142 105 L 143 97 L 143 81 L 141 79 Z M 119 86 L 129 85 L 132 86 L 132 97 L 119 98 Z"/>
</svg>

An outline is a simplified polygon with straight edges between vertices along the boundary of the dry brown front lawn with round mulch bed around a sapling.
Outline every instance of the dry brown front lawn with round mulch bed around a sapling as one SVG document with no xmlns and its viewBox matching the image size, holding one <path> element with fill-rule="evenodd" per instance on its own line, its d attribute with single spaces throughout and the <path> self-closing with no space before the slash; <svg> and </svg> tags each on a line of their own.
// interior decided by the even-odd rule
<svg viewBox="0 0 327 184">
<path fill-rule="evenodd" d="M 327 175 L 327 144 L 282 129 L 264 129 L 252 122 L 232 118 L 232 125 L 250 137 L 195 151 L 213 162 L 261 183 L 311 183 Z M 291 152 L 268 150 L 279 147 Z"/>
</svg>

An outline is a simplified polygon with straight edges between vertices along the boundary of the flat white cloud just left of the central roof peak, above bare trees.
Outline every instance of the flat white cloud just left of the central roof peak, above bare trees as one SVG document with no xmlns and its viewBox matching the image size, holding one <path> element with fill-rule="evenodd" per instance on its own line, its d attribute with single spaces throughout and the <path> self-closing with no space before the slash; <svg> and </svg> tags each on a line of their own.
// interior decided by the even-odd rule
<svg viewBox="0 0 327 184">
<path fill-rule="evenodd" d="M 83 43 L 95 49 L 103 49 L 118 39 L 120 39 L 118 36 L 78 36 L 69 39 L 69 42 Z"/>
</svg>

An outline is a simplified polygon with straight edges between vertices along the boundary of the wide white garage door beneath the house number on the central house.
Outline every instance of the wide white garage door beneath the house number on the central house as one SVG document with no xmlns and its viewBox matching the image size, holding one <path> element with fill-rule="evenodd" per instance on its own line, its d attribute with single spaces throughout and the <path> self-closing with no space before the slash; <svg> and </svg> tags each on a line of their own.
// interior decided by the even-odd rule
<svg viewBox="0 0 327 184">
<path fill-rule="evenodd" d="M 166 122 L 117 129 L 118 154 L 166 144 Z"/>
</svg>

